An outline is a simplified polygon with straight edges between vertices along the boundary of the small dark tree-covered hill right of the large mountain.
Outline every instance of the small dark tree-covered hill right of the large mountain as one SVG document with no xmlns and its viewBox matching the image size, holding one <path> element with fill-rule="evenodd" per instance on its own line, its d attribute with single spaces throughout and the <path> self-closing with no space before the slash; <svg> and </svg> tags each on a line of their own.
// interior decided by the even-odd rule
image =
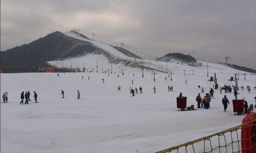
<svg viewBox="0 0 256 153">
<path fill-rule="evenodd" d="M 169 53 L 169 54 L 166 54 L 163 57 L 171 57 L 171 58 L 174 58 L 176 60 L 183 61 L 183 62 L 197 62 L 197 60 L 195 58 L 193 58 L 192 56 L 190 56 L 190 54 L 186 55 L 184 53 Z M 161 61 L 161 59 L 163 57 L 158 58 L 158 60 Z"/>
</svg>

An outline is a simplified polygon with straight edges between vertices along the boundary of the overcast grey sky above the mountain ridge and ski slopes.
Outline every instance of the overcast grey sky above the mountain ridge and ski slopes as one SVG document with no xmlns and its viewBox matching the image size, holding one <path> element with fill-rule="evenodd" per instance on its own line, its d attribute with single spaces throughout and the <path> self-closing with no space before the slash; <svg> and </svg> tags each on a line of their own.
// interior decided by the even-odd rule
<svg viewBox="0 0 256 153">
<path fill-rule="evenodd" d="M 80 29 L 91 39 L 95 33 L 95 40 L 104 38 L 116 46 L 123 42 L 143 58 L 173 52 L 193 56 L 195 51 L 198 60 L 224 61 L 229 56 L 228 62 L 256 69 L 255 0 L 0 2 L 1 51 L 54 31 Z"/>
</svg>

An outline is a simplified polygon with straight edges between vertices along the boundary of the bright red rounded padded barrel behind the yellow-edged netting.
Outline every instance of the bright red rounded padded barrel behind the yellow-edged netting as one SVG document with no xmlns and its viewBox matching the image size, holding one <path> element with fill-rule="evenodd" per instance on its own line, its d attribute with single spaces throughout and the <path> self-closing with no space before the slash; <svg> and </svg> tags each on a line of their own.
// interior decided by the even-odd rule
<svg viewBox="0 0 256 153">
<path fill-rule="evenodd" d="M 256 119 L 256 114 L 249 113 L 248 115 L 243 118 L 242 123 L 245 124 L 252 120 Z M 242 146 L 242 153 L 255 153 L 255 144 L 254 144 L 254 130 L 253 127 L 255 126 L 255 122 L 251 122 L 241 128 L 241 146 Z"/>
</svg>

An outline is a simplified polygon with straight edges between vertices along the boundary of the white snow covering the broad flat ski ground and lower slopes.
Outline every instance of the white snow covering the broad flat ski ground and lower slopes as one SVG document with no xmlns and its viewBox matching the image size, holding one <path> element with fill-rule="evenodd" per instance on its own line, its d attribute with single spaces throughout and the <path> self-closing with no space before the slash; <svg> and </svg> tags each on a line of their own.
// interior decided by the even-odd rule
<svg viewBox="0 0 256 153">
<path fill-rule="evenodd" d="M 197 86 L 204 87 L 204 92 L 209 93 L 213 82 L 207 80 L 214 77 L 214 73 L 219 87 L 234 85 L 235 82 L 228 79 L 239 73 L 238 85 L 245 89 L 239 89 L 238 99 L 245 97 L 248 104 L 255 104 L 253 87 L 256 75 L 220 64 L 209 63 L 207 77 L 205 62 L 202 67 L 191 67 L 177 64 L 175 60 L 145 60 L 145 66 L 165 71 L 167 64 L 168 71 L 174 73 L 171 81 L 170 75 L 156 71 L 154 82 L 153 72 L 146 69 L 142 78 L 141 69 L 113 64 L 111 73 L 111 64 L 103 55 L 50 63 L 58 67 L 62 67 L 62 62 L 64 67 L 70 67 L 72 63 L 73 67 L 82 68 L 83 61 L 88 71 L 59 73 L 59 77 L 58 72 L 1 73 L 0 92 L 9 94 L 9 102 L 0 105 L 1 153 L 152 153 L 238 126 L 245 115 L 234 115 L 233 90 L 232 93 L 224 94 L 223 91 L 220 94 L 219 89 L 215 89 L 210 108 L 197 108 L 195 98 L 201 93 Z M 246 80 L 241 74 L 247 74 Z M 105 83 L 102 83 L 102 78 Z M 121 86 L 121 91 L 117 90 L 118 86 Z M 140 86 L 143 93 L 132 97 L 129 88 L 139 89 Z M 153 93 L 154 86 L 156 93 Z M 173 91 L 168 91 L 168 86 L 173 86 Z M 252 88 L 251 93 L 246 86 Z M 61 98 L 61 90 L 65 92 L 65 98 Z M 77 99 L 77 90 L 81 93 L 80 100 Z M 32 101 L 29 105 L 20 104 L 22 91 L 30 91 Z M 39 103 L 33 103 L 33 91 L 37 92 Z M 193 104 L 198 110 L 177 111 L 176 97 L 180 92 L 187 97 L 187 107 Z M 224 95 L 230 101 L 226 112 L 221 102 Z M 195 150 L 203 152 L 203 145 Z"/>
</svg>

